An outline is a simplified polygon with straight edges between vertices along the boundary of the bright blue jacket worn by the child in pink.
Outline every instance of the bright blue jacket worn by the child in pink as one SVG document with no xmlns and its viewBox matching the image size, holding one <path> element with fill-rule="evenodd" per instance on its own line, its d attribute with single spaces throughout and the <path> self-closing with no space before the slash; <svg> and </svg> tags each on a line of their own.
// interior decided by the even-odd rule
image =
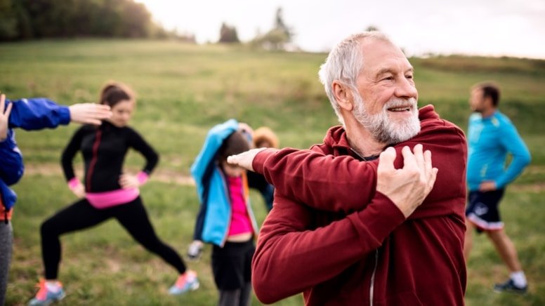
<svg viewBox="0 0 545 306">
<path fill-rule="evenodd" d="M 231 204 L 228 187 L 221 168 L 216 163 L 216 153 L 223 140 L 237 131 L 238 122 L 230 119 L 211 128 L 206 135 L 201 152 L 191 166 L 191 174 L 197 185 L 201 208 L 195 224 L 195 240 L 223 246 L 229 232 Z M 257 235 L 257 223 L 249 201 L 247 209 Z"/>
</svg>

